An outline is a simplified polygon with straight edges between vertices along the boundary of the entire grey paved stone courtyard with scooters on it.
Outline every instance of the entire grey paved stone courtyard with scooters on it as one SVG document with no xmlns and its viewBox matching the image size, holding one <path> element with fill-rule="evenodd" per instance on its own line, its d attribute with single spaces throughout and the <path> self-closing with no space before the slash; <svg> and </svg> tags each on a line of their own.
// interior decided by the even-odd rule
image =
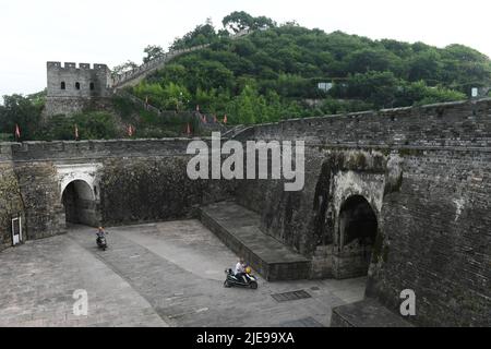
<svg viewBox="0 0 491 349">
<path fill-rule="evenodd" d="M 366 278 L 223 287 L 237 256 L 197 220 L 93 228 L 0 253 L 0 326 L 328 326 L 333 308 L 363 298 Z M 88 316 L 73 292 L 88 293 Z M 278 302 L 272 296 L 307 291 Z M 277 297 L 276 297 L 277 298 Z"/>
</svg>

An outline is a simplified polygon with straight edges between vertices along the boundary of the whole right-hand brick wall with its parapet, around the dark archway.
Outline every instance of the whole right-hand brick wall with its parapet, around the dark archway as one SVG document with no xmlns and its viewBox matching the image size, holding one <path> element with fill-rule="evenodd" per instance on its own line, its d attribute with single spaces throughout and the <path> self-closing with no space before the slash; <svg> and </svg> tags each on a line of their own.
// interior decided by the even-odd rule
<svg viewBox="0 0 491 349">
<path fill-rule="evenodd" d="M 397 312 L 400 291 L 415 290 L 417 325 L 491 324 L 489 100 L 285 121 L 239 137 L 307 141 L 303 191 L 248 181 L 238 200 L 312 257 L 313 277 L 350 275 L 339 202 L 359 194 L 379 221 L 368 296 Z"/>
</svg>

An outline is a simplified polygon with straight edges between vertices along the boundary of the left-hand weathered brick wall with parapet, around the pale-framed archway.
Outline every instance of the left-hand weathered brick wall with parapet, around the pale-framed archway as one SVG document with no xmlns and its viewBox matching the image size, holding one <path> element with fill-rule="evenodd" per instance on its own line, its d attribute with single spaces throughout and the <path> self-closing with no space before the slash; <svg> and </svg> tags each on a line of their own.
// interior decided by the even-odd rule
<svg viewBox="0 0 491 349">
<path fill-rule="evenodd" d="M 191 181 L 188 139 L 87 142 L 25 142 L 11 145 L 26 201 L 28 238 L 64 231 L 57 168 L 100 166 L 96 206 L 103 225 L 194 217 L 205 203 L 229 198 L 233 182 Z M 76 179 L 76 178 L 74 178 Z"/>
</svg>

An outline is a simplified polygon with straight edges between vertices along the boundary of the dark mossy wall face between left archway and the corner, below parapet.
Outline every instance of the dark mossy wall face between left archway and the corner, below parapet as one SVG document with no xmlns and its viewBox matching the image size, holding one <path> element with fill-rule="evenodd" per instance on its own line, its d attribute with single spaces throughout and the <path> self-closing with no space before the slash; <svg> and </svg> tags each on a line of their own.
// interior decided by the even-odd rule
<svg viewBox="0 0 491 349">
<path fill-rule="evenodd" d="M 200 205 L 230 196 L 232 182 L 190 180 L 188 160 L 185 156 L 107 160 L 99 184 L 103 222 L 190 218 Z"/>
</svg>

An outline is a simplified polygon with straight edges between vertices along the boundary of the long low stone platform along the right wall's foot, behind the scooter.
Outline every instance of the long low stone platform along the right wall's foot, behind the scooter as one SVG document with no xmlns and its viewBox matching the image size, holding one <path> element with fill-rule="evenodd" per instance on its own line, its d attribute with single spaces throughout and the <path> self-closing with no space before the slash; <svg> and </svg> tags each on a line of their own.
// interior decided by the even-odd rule
<svg viewBox="0 0 491 349">
<path fill-rule="evenodd" d="M 233 202 L 201 208 L 202 222 L 268 281 L 308 279 L 311 261 L 260 229 L 260 215 Z"/>
</svg>

